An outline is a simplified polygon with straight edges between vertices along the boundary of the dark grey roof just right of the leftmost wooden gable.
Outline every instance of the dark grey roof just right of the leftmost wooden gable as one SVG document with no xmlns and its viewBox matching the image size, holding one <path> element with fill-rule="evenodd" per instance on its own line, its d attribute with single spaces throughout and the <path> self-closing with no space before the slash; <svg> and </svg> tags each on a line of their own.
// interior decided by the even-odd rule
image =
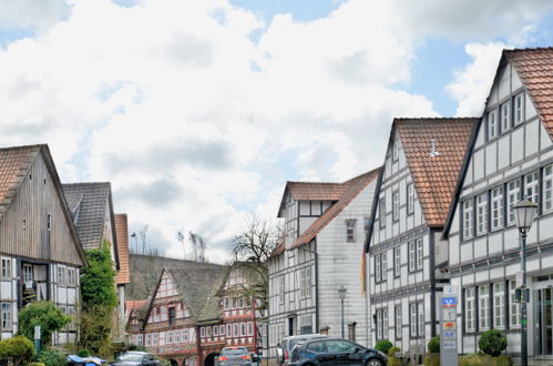
<svg viewBox="0 0 553 366">
<path fill-rule="evenodd" d="M 102 244 L 110 183 L 73 183 L 62 184 L 62 187 L 71 215 L 73 220 L 76 217 L 81 245 L 84 250 L 98 250 Z"/>
</svg>

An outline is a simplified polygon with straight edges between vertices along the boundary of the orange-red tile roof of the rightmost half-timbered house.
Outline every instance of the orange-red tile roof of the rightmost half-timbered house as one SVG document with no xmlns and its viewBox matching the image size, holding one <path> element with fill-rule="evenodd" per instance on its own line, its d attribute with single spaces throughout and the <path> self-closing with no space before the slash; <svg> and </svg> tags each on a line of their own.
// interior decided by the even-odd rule
<svg viewBox="0 0 553 366">
<path fill-rule="evenodd" d="M 553 48 L 504 50 L 553 139 Z"/>
</svg>

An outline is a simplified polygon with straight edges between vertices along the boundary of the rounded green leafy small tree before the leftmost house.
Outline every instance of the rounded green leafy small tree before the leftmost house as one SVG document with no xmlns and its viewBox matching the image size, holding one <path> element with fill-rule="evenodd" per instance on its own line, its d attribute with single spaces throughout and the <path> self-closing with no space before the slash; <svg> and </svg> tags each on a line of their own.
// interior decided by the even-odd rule
<svg viewBox="0 0 553 366">
<path fill-rule="evenodd" d="M 30 340 L 34 339 L 34 327 L 40 325 L 41 344 L 52 343 L 52 333 L 71 323 L 71 318 L 51 302 L 33 302 L 19 312 L 19 332 Z"/>
</svg>

